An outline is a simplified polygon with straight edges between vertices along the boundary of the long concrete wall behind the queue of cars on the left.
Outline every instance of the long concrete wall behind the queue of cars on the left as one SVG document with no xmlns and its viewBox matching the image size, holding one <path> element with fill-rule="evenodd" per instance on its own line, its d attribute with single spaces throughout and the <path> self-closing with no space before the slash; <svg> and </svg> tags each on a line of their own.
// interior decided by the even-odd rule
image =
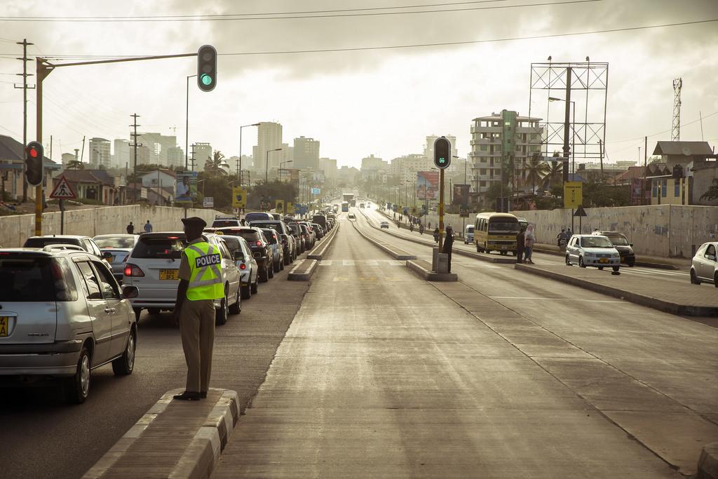
<svg viewBox="0 0 718 479">
<path fill-rule="evenodd" d="M 187 209 L 187 216 L 199 216 L 212 224 L 215 210 Z M 167 206 L 108 206 L 65 211 L 65 234 L 96 236 L 107 233 L 126 233 L 126 226 L 132 221 L 135 233 L 142 233 L 147 220 L 154 231 L 182 231 L 182 208 Z M 35 216 L 14 215 L 0 217 L 0 246 L 14 248 L 22 246 L 25 239 L 34 236 Z M 60 234 L 60 213 L 42 215 L 42 234 Z"/>
</svg>

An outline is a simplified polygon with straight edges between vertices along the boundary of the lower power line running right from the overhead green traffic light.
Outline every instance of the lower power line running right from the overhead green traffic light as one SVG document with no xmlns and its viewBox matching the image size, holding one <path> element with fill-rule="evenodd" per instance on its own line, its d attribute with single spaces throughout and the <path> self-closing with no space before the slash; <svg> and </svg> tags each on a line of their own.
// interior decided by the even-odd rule
<svg viewBox="0 0 718 479">
<path fill-rule="evenodd" d="M 679 23 L 667 23 L 658 25 L 645 25 L 642 27 L 623 27 L 613 29 L 602 29 L 602 30 L 591 30 L 589 32 L 568 32 L 568 33 L 552 33 L 543 35 L 531 35 L 527 37 L 504 37 L 504 38 L 492 38 L 482 40 L 467 40 L 462 42 L 439 42 L 439 43 L 416 43 L 412 45 L 380 45 L 376 47 L 347 47 L 347 48 L 322 48 L 317 50 L 275 50 L 266 52 L 230 52 L 230 53 L 218 53 L 220 56 L 241 56 L 241 55 L 288 55 L 288 54 L 299 54 L 299 53 L 328 53 L 328 52 L 358 52 L 366 50 L 393 50 L 403 48 L 421 48 L 421 47 L 449 47 L 455 45 L 475 45 L 480 43 L 494 43 L 494 42 L 514 42 L 518 40 L 533 40 L 533 39 L 546 39 L 546 38 L 557 38 L 557 37 L 578 37 L 582 35 L 592 35 L 600 33 L 615 33 L 615 32 L 630 32 L 635 30 L 647 30 L 663 27 L 681 27 L 684 25 L 694 25 L 702 23 L 718 22 L 718 19 L 708 20 L 695 20 L 691 22 L 679 22 Z M 0 53 L 0 55 L 6 55 Z M 103 59 L 103 58 L 128 58 L 128 57 L 142 57 L 151 55 L 47 55 L 47 58 L 52 60 L 85 60 L 85 59 Z"/>
</svg>

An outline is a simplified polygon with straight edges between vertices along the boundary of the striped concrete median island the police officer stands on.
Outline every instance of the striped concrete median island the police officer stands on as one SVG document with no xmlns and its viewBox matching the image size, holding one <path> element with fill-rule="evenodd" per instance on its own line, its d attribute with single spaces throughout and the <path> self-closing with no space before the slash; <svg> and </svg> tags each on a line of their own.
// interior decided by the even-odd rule
<svg viewBox="0 0 718 479">
<path fill-rule="evenodd" d="M 167 478 L 208 478 L 217 465 L 239 419 L 239 397 L 236 391 L 210 388 L 208 396 L 217 398 L 213 409 L 208 412 L 204 422 L 195 430 L 189 445 L 186 445 L 183 441 L 186 441 L 187 433 L 190 431 L 180 430 L 183 424 L 182 413 L 196 413 L 196 409 L 192 409 L 192 407 L 205 406 L 201 401 L 199 404 L 193 401 L 189 403 L 174 401 L 176 410 L 172 411 L 172 418 L 168 420 L 173 426 L 169 435 L 166 425 L 153 428 L 153 424 L 157 424 L 157 419 L 161 418 L 162 414 L 167 414 L 169 405 L 173 404 L 172 396 L 181 392 L 182 389 L 167 391 L 98 462 L 95 462 L 95 465 L 83 475 L 83 479 L 139 478 L 150 475 Z M 187 426 L 185 429 L 189 427 L 192 426 Z M 172 453 L 181 451 L 181 455 L 177 458 L 174 458 L 172 453 L 165 451 L 172 441 L 177 441 L 177 450 Z M 146 460 L 140 460 L 131 453 L 131 449 L 139 448 L 143 452 L 151 454 L 152 448 L 157 447 L 158 443 L 162 443 L 165 447 L 162 448 L 162 451 L 157 451 L 157 463 L 147 463 Z M 167 462 L 167 457 L 169 457 L 169 462 Z"/>
</svg>

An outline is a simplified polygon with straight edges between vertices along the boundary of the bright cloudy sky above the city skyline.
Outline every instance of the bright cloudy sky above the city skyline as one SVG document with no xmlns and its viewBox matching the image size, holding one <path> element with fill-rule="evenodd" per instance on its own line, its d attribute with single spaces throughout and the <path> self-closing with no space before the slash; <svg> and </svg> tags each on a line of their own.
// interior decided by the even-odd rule
<svg viewBox="0 0 718 479">
<path fill-rule="evenodd" d="M 192 17 L 215 14 L 223 17 Z M 190 144 L 208 141 L 235 155 L 239 125 L 279 121 L 285 142 L 312 136 L 322 157 L 357 167 L 369 154 L 419 153 L 429 134 L 457 136 L 464 157 L 472 118 L 504 108 L 528 113 L 531 62 L 589 56 L 610 64 L 608 158 L 636 159 L 644 135 L 651 150 L 670 139 L 676 77 L 684 85 L 681 139 L 701 139 L 702 115 L 704 139 L 718 144 L 718 22 L 630 28 L 712 19 L 716 0 L 4 0 L 0 134 L 22 141 L 22 90 L 13 82 L 22 68 L 14 42 L 23 38 L 35 44 L 32 57 L 167 55 L 215 45 L 217 88 L 202 93 L 190 83 Z M 628 30 L 549 37 L 609 29 Z M 297 52 L 450 42 L 466 43 Z M 52 134 L 59 159 L 83 136 L 129 139 L 130 115 L 138 113 L 141 131 L 176 131 L 184 148 L 185 83 L 194 73 L 195 58 L 55 70 L 44 84 L 45 141 Z M 29 98 L 34 139 L 34 90 Z M 545 99 L 537 103 L 534 116 L 546 111 Z M 244 134 L 249 154 L 256 132 Z"/>
</svg>

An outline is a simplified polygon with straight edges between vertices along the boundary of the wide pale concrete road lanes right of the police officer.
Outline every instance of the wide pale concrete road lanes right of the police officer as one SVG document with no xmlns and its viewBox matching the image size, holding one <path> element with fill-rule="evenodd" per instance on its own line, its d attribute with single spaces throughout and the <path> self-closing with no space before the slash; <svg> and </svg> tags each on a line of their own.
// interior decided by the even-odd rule
<svg viewBox="0 0 718 479">
<path fill-rule="evenodd" d="M 342 225 L 213 477 L 681 477 L 622 427 L 715 434 L 718 331 L 457 263 L 432 285 Z"/>
</svg>

